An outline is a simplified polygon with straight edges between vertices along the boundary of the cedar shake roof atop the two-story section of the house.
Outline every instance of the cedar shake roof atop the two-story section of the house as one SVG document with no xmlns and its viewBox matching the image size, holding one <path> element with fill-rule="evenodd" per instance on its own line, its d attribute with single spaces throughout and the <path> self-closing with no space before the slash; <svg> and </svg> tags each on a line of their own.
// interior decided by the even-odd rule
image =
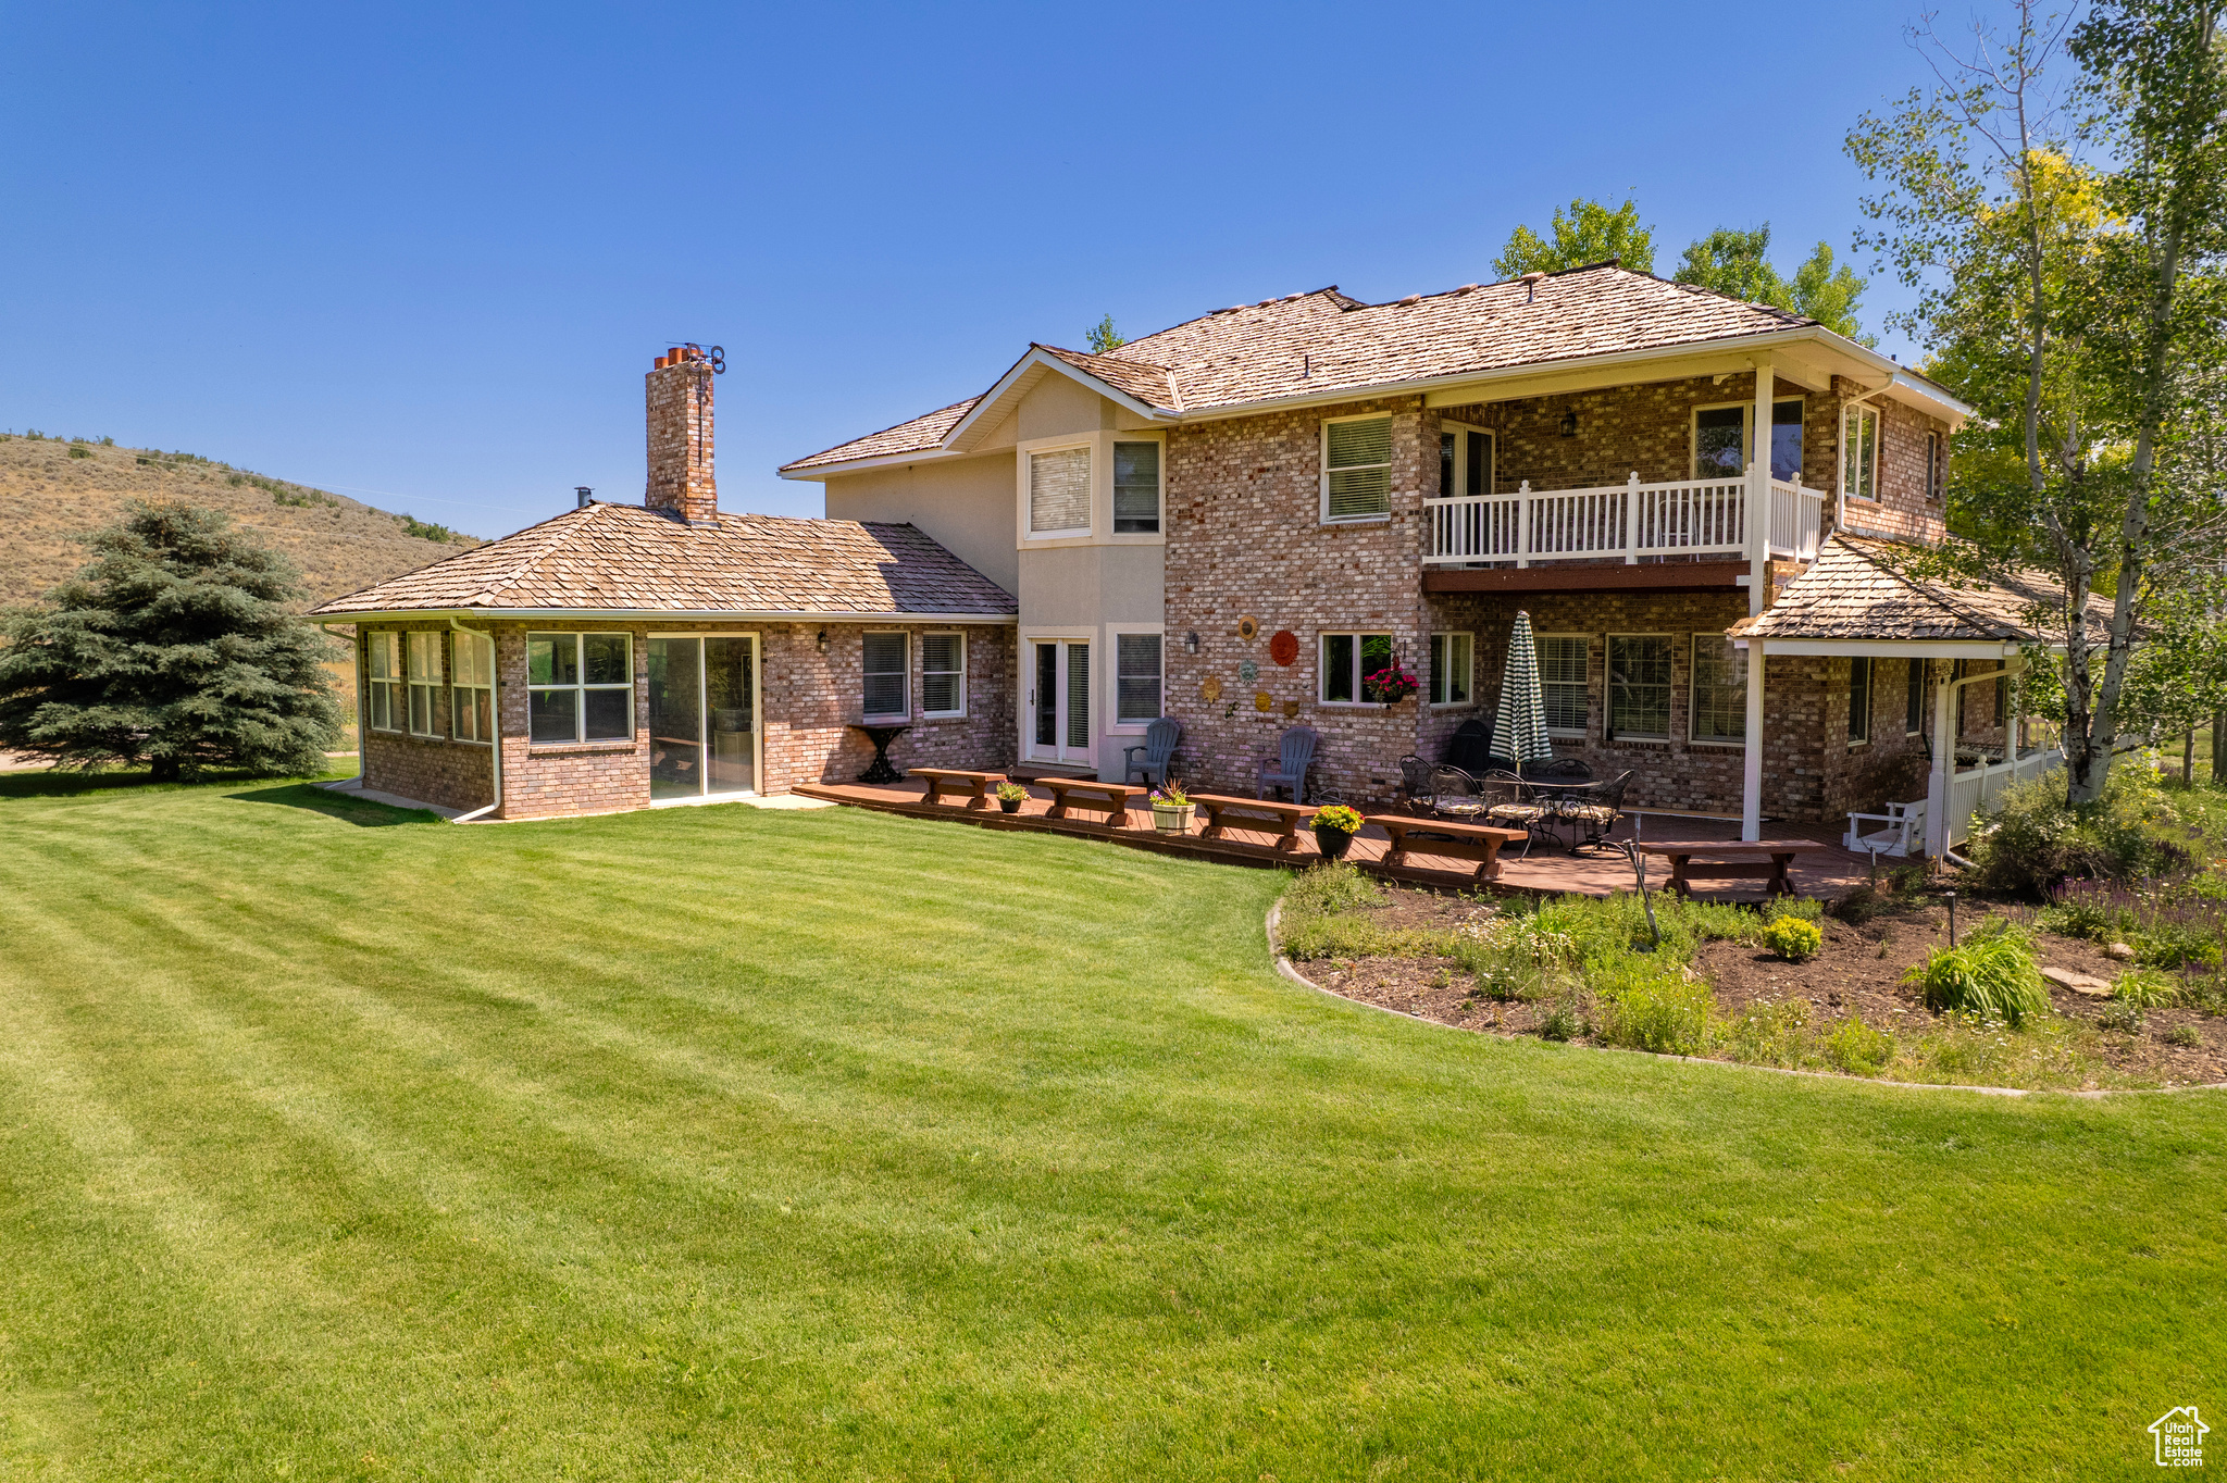
<svg viewBox="0 0 2227 1483">
<path fill-rule="evenodd" d="M 1534 283 L 1468 285 L 1361 303 L 1336 287 L 1216 310 L 1129 341 L 1109 356 L 1031 345 L 1160 412 L 1238 410 L 1283 396 L 1323 396 L 1465 372 L 1581 356 L 1672 350 L 1775 334 L 1817 321 L 1742 303 L 1612 263 Z M 853 459 L 929 452 L 982 396 L 797 459 L 782 472 Z"/>
</svg>

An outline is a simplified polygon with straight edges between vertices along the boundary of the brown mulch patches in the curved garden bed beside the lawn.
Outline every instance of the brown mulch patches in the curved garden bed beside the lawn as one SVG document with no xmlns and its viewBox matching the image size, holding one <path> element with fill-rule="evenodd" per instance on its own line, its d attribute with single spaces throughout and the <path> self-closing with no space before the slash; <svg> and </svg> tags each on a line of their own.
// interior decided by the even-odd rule
<svg viewBox="0 0 2227 1483">
<path fill-rule="evenodd" d="M 1385 895 L 1390 900 L 1379 909 L 1379 920 L 1401 929 L 1445 931 L 1485 911 L 1483 902 L 1432 891 L 1387 888 Z M 1984 915 L 1986 906 L 1966 902 L 1958 909 L 1958 933 L 1978 926 Z M 1929 949 L 1946 944 L 1944 906 L 1904 906 L 1862 926 L 1826 917 L 1819 926 L 1824 946 L 1811 962 L 1784 962 L 1737 942 L 1704 942 L 1695 953 L 1695 969 L 1708 978 L 1719 1009 L 1728 1015 L 1757 1000 L 1808 1000 L 1813 1022 L 1862 1013 L 1866 1024 L 1897 1035 L 1922 1033 L 1933 1022 L 1933 1011 L 1924 1006 L 1917 989 L 1902 984 L 1902 973 L 1924 962 Z M 2125 971 L 2125 964 L 2105 957 L 2098 944 L 2053 933 L 2035 935 L 2035 957 L 2044 966 L 2089 973 L 2105 982 Z M 1474 998 L 1470 975 L 1450 957 L 1352 957 L 1294 966 L 1309 982 L 1343 998 L 1459 1029 L 1532 1035 L 1546 1011 L 1543 1004 Z M 2096 1020 L 2109 1004 L 2056 984 L 2049 984 L 2049 1000 L 2069 1020 Z M 2200 1042 L 2167 1044 L 2167 1031 L 2178 1024 L 2194 1024 Z M 2160 1087 L 2227 1082 L 2227 1020 L 2194 1009 L 2151 1009 L 2140 1033 L 2102 1033 L 2098 1053 L 2116 1071 Z"/>
</svg>

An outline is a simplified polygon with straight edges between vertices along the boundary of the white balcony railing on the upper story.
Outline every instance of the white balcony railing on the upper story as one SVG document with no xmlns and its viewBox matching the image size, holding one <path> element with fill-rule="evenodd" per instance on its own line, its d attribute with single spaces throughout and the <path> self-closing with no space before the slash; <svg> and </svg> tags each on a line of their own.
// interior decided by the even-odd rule
<svg viewBox="0 0 2227 1483">
<path fill-rule="evenodd" d="M 1770 554 L 1817 557 L 1824 492 L 1770 481 Z M 1423 501 L 1423 561 L 1574 561 L 1746 557 L 1748 481 L 1681 479 L 1595 490 L 1532 490 Z"/>
</svg>

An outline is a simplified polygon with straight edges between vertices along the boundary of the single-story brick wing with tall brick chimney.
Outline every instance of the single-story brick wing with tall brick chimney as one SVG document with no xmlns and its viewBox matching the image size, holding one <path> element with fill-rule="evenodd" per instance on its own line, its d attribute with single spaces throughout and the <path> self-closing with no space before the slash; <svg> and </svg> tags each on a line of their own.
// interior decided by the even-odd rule
<svg viewBox="0 0 2227 1483">
<path fill-rule="evenodd" d="M 646 379 L 648 492 L 339 597 L 363 786 L 530 819 L 848 779 L 860 724 L 975 764 L 1013 730 L 1013 597 L 902 521 L 722 514 L 713 370 Z"/>
</svg>

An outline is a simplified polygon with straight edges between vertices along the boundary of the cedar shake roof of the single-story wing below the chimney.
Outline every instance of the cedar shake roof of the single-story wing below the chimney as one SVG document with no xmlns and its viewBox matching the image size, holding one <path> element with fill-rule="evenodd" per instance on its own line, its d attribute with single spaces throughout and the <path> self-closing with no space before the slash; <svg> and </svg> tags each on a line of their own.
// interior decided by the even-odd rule
<svg viewBox="0 0 2227 1483">
<path fill-rule="evenodd" d="M 592 503 L 336 597 L 312 617 L 410 610 L 967 615 L 1013 597 L 913 526 Z"/>
</svg>

